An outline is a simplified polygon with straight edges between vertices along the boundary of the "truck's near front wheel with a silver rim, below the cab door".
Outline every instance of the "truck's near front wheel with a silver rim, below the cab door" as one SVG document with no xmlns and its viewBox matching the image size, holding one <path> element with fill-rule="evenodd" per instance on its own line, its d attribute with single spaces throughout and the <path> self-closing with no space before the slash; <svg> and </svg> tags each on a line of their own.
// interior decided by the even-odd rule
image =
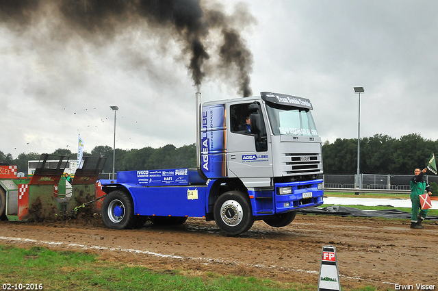
<svg viewBox="0 0 438 291">
<path fill-rule="evenodd" d="M 254 218 L 248 195 L 229 191 L 220 195 L 214 203 L 214 220 L 224 233 L 235 236 L 253 226 Z"/>
</svg>

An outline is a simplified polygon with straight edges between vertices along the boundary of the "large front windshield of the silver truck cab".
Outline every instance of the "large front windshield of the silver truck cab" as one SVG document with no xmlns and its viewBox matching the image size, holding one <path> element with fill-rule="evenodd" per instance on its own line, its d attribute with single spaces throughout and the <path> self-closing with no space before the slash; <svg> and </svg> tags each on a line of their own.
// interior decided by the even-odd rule
<svg viewBox="0 0 438 291">
<path fill-rule="evenodd" d="M 275 136 L 318 136 L 311 110 L 266 103 L 272 133 Z"/>
</svg>

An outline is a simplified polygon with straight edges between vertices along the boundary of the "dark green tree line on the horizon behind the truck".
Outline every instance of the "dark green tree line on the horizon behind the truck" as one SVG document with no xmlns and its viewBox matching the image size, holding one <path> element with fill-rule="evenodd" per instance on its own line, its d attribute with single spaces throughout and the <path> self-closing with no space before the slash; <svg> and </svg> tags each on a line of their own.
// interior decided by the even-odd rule
<svg viewBox="0 0 438 291">
<path fill-rule="evenodd" d="M 367 174 L 412 174 L 416 167 L 426 165 L 430 153 L 438 152 L 438 140 L 427 140 L 419 134 L 409 134 L 401 138 L 391 138 L 376 134 L 360 140 L 360 170 Z M 77 159 L 77 153 L 69 149 L 57 149 L 52 154 L 65 155 L 70 160 Z M 112 173 L 113 149 L 109 146 L 97 146 L 83 155 L 107 157 L 103 173 Z M 18 172 L 27 173 L 27 161 L 38 160 L 39 153 L 21 153 L 12 158 L 10 153 L 0 151 L 0 163 L 16 164 Z M 333 143 L 322 144 L 322 160 L 326 174 L 357 173 L 357 138 L 337 138 Z M 154 170 L 162 168 L 196 168 L 195 144 L 175 147 L 167 144 L 153 149 L 116 149 L 115 169 L 118 170 Z"/>
</svg>

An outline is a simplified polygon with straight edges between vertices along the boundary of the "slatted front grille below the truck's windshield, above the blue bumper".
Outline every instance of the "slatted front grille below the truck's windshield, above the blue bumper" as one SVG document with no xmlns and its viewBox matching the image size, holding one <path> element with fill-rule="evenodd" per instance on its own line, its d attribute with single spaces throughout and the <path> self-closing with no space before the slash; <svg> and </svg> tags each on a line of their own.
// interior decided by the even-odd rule
<svg viewBox="0 0 438 291">
<path fill-rule="evenodd" d="M 283 155 L 283 175 L 322 173 L 319 153 L 286 153 Z"/>
</svg>

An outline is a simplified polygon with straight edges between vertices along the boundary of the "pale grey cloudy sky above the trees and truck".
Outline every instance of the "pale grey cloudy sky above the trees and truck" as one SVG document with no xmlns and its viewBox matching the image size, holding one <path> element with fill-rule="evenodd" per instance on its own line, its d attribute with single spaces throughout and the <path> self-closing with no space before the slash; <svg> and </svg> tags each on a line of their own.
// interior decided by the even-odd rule
<svg viewBox="0 0 438 291">
<path fill-rule="evenodd" d="M 160 26 L 130 14 L 105 17 L 122 23 L 108 30 L 105 21 L 83 29 L 82 18 L 60 16 L 51 0 L 25 10 L 23 20 L 8 1 L 0 2 L 0 151 L 14 158 L 75 153 L 78 136 L 88 153 L 113 147 L 112 105 L 118 149 L 192 144 L 195 92 L 203 101 L 242 97 L 242 74 L 250 96 L 310 99 L 322 142 L 357 138 L 356 86 L 365 89 L 361 137 L 438 139 L 438 1 L 175 0 L 181 7 L 172 17 L 184 3 L 201 8 L 188 14 L 224 15 L 225 24 L 210 17 L 207 30 L 190 34 L 178 18 Z M 81 17 L 96 10 L 87 1 L 77 1 Z M 224 28 L 249 52 L 244 65 L 221 60 Z M 197 63 L 201 81 L 190 66 L 193 40 L 208 54 Z"/>
</svg>

